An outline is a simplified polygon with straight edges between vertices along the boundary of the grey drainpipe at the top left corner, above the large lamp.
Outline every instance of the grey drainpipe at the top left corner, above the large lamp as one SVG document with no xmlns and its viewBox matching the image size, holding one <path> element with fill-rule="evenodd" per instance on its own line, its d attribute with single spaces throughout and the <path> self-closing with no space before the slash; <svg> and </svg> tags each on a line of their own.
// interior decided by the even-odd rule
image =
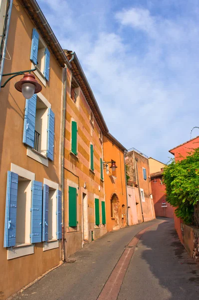
<svg viewBox="0 0 199 300">
<path fill-rule="evenodd" d="M 1 80 L 2 80 L 3 66 L 4 66 L 4 61 L 5 61 L 5 55 L 6 55 L 6 44 L 7 44 L 9 24 L 10 24 L 10 18 L 11 18 L 12 2 L 13 2 L 13 0 L 9 1 L 9 6 L 8 6 L 8 9 L 6 12 L 7 23 L 5 25 L 3 36 L 2 36 L 2 39 L 4 38 L 4 43 L 2 41 L 3 49 L 2 49 L 2 57 L 1 57 L 1 61 L 0 61 L 0 85 L 1 85 Z M 5 16 L 5 18 L 6 18 L 6 16 Z"/>
</svg>

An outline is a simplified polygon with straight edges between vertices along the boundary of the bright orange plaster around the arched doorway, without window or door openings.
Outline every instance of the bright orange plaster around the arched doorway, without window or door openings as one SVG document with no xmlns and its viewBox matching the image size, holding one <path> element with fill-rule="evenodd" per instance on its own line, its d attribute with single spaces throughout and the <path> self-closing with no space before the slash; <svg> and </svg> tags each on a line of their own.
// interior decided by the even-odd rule
<svg viewBox="0 0 199 300">
<path fill-rule="evenodd" d="M 127 223 L 127 197 L 125 181 L 124 152 L 119 149 L 108 137 L 103 137 L 104 161 L 116 161 L 116 176 L 112 176 L 112 170 L 104 169 L 105 200 L 106 200 L 106 226 L 107 231 L 126 226 Z M 108 163 L 110 166 L 111 164 Z M 111 217 L 111 198 L 116 194 L 118 197 L 118 213 Z M 122 205 L 124 206 L 124 215 L 122 217 Z M 116 219 L 117 218 L 117 219 Z"/>
</svg>

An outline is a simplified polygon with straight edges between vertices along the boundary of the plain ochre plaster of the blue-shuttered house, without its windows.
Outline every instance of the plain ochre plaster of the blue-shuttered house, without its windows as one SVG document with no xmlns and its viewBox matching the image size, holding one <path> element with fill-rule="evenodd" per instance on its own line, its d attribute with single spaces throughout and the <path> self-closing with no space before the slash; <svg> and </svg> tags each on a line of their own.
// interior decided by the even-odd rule
<svg viewBox="0 0 199 300">
<path fill-rule="evenodd" d="M 13 1 L 7 42 L 11 60 L 5 60 L 3 73 L 31 68 L 30 47 L 34 24 L 25 13 L 21 3 Z M 7 56 L 7 54 L 6 54 Z M 28 284 L 60 261 L 59 248 L 43 251 L 43 243 L 36 243 L 34 254 L 7 260 L 7 250 L 3 248 L 5 195 L 7 170 L 14 163 L 35 173 L 35 180 L 43 178 L 59 183 L 59 133 L 62 68 L 50 54 L 50 79 L 46 87 L 42 84 L 41 93 L 52 104 L 55 113 L 54 161 L 46 167 L 26 155 L 27 147 L 22 143 L 25 99 L 14 84 L 22 76 L 12 78 L 0 90 L 0 296 L 7 296 Z M 4 82 L 4 78 L 2 83 Z M 38 79 L 37 79 L 38 80 Z"/>
</svg>

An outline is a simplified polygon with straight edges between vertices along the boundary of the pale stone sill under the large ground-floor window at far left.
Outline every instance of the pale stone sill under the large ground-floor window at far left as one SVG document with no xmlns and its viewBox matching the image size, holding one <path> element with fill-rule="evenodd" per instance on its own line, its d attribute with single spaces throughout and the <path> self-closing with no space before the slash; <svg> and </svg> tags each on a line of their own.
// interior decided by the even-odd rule
<svg viewBox="0 0 199 300">
<path fill-rule="evenodd" d="M 34 254 L 33 244 L 20 244 L 11 248 L 7 248 L 7 259 L 17 258 L 29 254 Z"/>
</svg>

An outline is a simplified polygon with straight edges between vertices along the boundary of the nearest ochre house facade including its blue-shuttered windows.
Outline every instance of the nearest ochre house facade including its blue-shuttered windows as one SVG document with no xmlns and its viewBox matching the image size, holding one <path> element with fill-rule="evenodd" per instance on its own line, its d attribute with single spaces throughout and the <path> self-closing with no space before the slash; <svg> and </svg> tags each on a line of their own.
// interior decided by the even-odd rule
<svg viewBox="0 0 199 300">
<path fill-rule="evenodd" d="M 54 45 L 53 32 L 47 33 L 48 23 L 42 13 L 38 16 L 36 5 L 14 0 L 9 7 L 6 48 L 11 58 L 4 61 L 3 74 L 36 68 L 33 74 L 42 90 L 25 99 L 14 87 L 22 75 L 0 89 L 1 299 L 61 260 L 60 118 L 63 68 L 70 64 L 58 41 Z M 7 78 L 2 77 L 1 85 Z M 48 227 L 42 235 L 44 189 Z"/>
</svg>

